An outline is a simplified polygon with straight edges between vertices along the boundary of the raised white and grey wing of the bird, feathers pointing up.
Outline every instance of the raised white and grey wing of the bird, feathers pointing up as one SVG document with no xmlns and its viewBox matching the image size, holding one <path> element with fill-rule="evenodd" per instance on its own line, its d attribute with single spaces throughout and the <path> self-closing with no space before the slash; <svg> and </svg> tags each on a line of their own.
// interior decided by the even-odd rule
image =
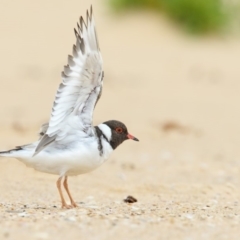
<svg viewBox="0 0 240 240">
<path fill-rule="evenodd" d="M 64 139 L 71 132 L 92 134 L 94 107 L 102 91 L 102 56 L 95 30 L 92 7 L 87 11 L 87 20 L 80 18 L 77 24 L 76 45 L 68 56 L 68 65 L 62 72 L 52 114 L 48 125 L 44 126 L 35 155 L 53 141 Z"/>
</svg>

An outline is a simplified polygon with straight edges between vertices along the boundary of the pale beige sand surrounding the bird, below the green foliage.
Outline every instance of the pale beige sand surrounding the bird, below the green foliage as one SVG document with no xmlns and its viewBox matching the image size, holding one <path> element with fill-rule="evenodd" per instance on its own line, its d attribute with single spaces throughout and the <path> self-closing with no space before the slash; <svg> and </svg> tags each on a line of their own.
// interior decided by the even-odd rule
<svg viewBox="0 0 240 240">
<path fill-rule="evenodd" d="M 71 210 L 57 176 L 1 159 L 0 239 L 239 239 L 239 37 L 190 37 L 163 16 L 91 3 L 105 70 L 94 124 L 121 120 L 140 142 L 70 178 Z M 48 121 L 91 3 L 2 3 L 1 150 L 36 140 Z"/>
</svg>

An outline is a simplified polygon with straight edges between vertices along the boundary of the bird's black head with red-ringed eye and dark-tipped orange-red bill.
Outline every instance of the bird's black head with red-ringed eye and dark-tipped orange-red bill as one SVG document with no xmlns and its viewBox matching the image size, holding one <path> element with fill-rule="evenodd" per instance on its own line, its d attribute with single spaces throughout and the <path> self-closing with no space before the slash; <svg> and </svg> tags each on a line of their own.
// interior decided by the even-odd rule
<svg viewBox="0 0 240 240">
<path fill-rule="evenodd" d="M 123 141 L 127 139 L 139 141 L 137 138 L 128 133 L 127 127 L 122 122 L 110 120 L 104 122 L 103 124 L 107 125 L 111 130 L 111 134 L 108 135 L 109 142 L 113 149 L 115 149 L 117 146 L 119 146 Z"/>
</svg>

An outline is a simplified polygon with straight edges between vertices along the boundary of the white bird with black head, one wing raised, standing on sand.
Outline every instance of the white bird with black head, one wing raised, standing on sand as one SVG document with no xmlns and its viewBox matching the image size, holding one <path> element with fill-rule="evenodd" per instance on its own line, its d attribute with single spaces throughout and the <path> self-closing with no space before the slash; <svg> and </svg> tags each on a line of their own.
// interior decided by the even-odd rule
<svg viewBox="0 0 240 240">
<path fill-rule="evenodd" d="M 68 188 L 69 176 L 93 171 L 125 140 L 139 141 L 118 120 L 93 126 L 104 72 L 92 6 L 85 21 L 79 18 L 74 33 L 76 44 L 61 74 L 49 122 L 42 125 L 38 140 L 0 152 L 0 157 L 16 158 L 27 167 L 58 175 L 61 207 L 67 209 L 77 207 Z M 62 185 L 70 204 L 64 199 Z"/>
</svg>

